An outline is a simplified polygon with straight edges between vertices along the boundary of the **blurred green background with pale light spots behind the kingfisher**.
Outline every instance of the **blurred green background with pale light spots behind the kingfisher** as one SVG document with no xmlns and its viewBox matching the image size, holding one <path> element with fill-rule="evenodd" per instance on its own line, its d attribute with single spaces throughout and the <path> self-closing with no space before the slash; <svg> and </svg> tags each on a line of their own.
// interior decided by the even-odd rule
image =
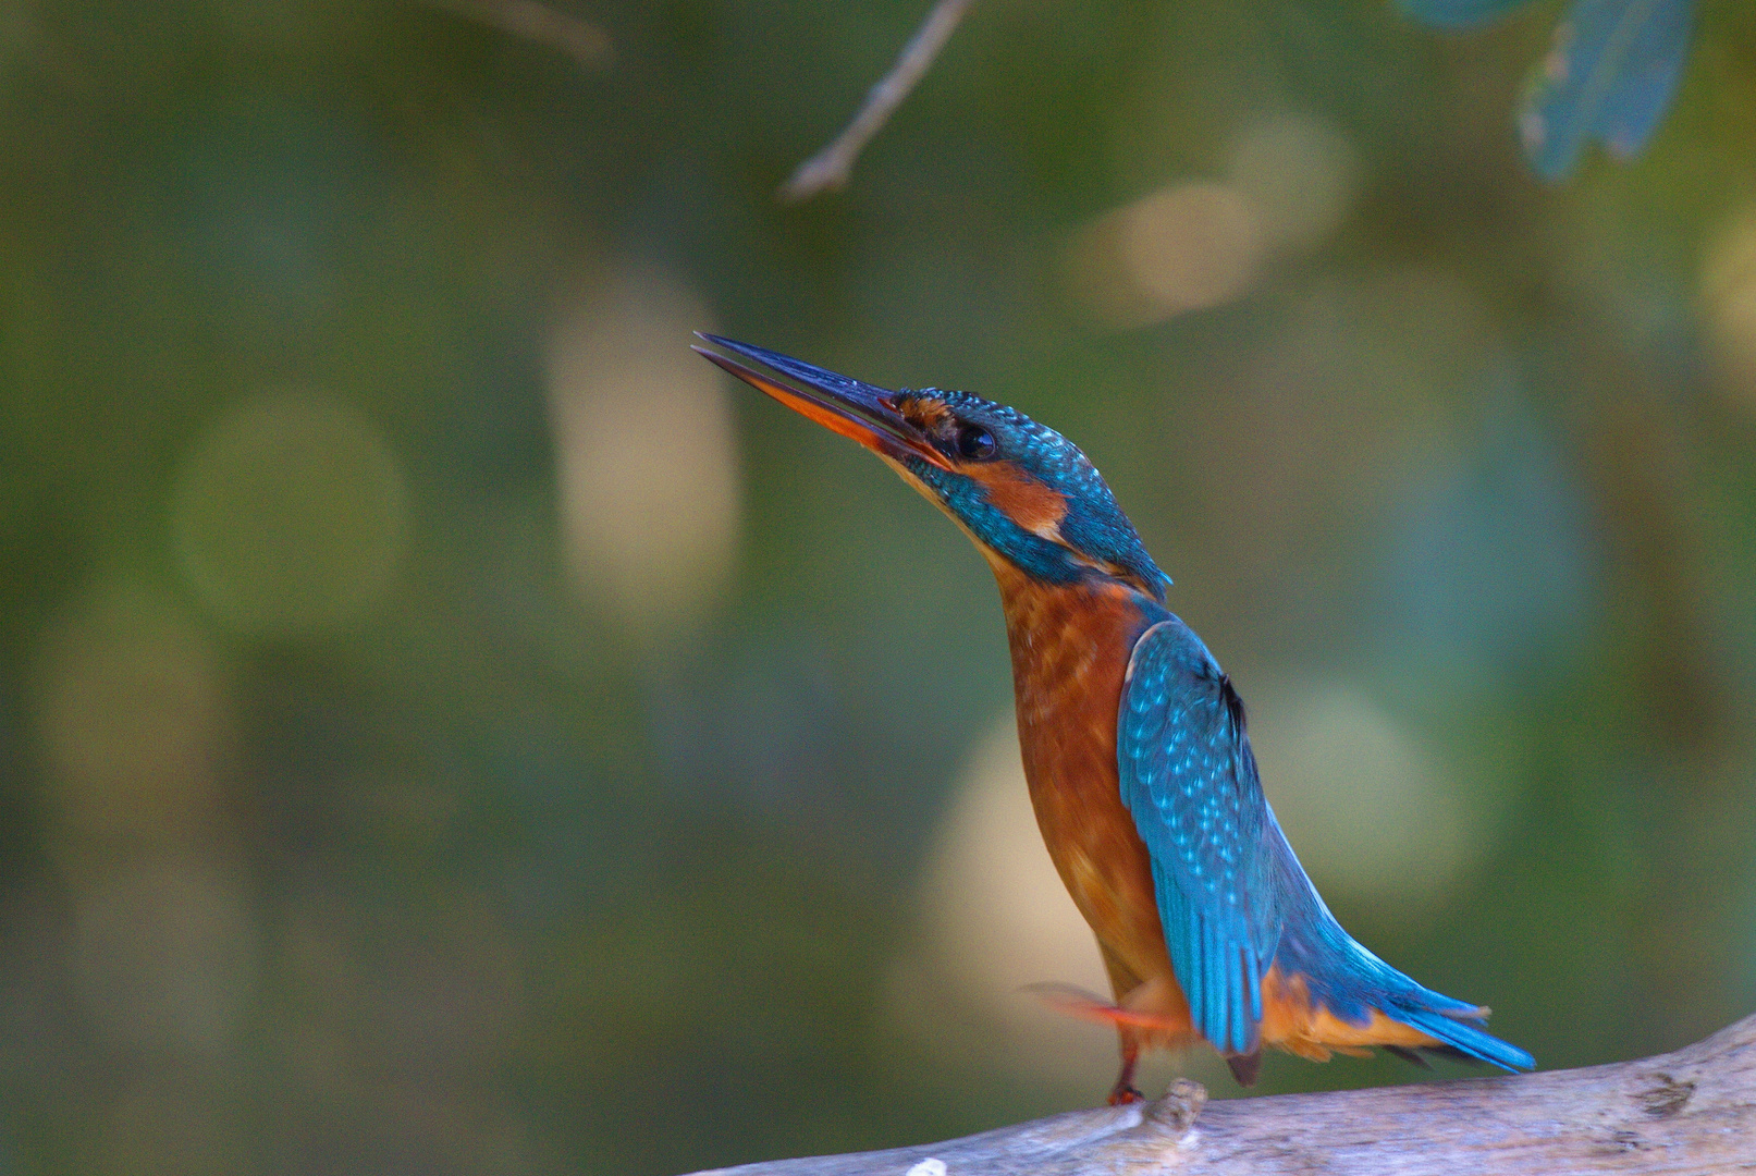
<svg viewBox="0 0 1756 1176">
<path fill-rule="evenodd" d="M 697 328 L 1078 441 L 1342 921 L 1545 1067 L 1756 1006 L 1756 9 L 1544 188 L 1556 4 L 982 2 L 801 207 L 924 4 L 562 11 L 609 67 L 0 2 L 0 1171 L 664 1174 L 1103 1095 L 1017 993 L 1096 953 L 987 569 Z"/>
</svg>

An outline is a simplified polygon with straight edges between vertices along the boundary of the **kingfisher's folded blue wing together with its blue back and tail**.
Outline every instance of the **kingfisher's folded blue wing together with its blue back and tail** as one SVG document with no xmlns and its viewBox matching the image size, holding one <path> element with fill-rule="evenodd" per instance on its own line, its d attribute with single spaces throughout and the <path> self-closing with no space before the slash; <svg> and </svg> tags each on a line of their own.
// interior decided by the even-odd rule
<svg viewBox="0 0 1756 1176">
<path fill-rule="evenodd" d="M 1152 857 L 1171 967 L 1194 1027 L 1220 1053 L 1256 1053 L 1263 976 L 1277 965 L 1342 1020 L 1363 1025 L 1377 1009 L 1468 1057 L 1507 1069 L 1533 1064 L 1480 1029 L 1487 1009 L 1417 985 L 1342 930 L 1268 807 L 1243 704 L 1175 616 L 1134 642 L 1117 767 L 1122 802 Z"/>
</svg>

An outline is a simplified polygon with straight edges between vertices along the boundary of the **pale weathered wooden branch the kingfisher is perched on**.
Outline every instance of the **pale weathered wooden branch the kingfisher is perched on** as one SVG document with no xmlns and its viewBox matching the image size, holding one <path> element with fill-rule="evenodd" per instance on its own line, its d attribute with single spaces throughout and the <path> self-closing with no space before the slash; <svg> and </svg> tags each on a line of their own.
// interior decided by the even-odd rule
<svg viewBox="0 0 1756 1176">
<path fill-rule="evenodd" d="M 1071 1111 L 896 1151 L 701 1176 L 1054 1176 L 1205 1172 L 1401 1176 L 1756 1172 L 1756 1016 L 1640 1062 L 1201 1106 Z"/>
</svg>

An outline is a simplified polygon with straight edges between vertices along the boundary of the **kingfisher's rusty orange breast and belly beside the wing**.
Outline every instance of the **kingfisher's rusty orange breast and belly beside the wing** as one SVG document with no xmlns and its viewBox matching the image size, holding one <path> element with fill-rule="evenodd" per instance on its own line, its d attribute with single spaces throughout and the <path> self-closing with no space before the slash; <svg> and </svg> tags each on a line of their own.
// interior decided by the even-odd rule
<svg viewBox="0 0 1756 1176">
<path fill-rule="evenodd" d="M 1113 583 L 1045 586 L 1004 560 L 992 563 L 1006 606 L 1024 776 L 1048 857 L 1098 936 L 1117 1004 L 1187 1025 L 1152 862 L 1117 781 L 1122 676 L 1145 628 L 1140 597 Z"/>
</svg>

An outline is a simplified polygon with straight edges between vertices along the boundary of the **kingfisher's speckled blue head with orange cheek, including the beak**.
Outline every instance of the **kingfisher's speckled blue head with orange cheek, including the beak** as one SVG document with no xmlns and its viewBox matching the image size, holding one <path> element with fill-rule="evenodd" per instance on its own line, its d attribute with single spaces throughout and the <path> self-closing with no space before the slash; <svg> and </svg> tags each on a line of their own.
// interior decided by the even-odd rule
<svg viewBox="0 0 1756 1176">
<path fill-rule="evenodd" d="M 852 437 L 975 539 L 1040 581 L 1117 579 L 1162 602 L 1157 569 L 1071 441 L 1004 404 L 968 391 L 892 391 L 745 342 L 701 335 L 776 376 L 695 348 L 746 384 Z"/>
</svg>

